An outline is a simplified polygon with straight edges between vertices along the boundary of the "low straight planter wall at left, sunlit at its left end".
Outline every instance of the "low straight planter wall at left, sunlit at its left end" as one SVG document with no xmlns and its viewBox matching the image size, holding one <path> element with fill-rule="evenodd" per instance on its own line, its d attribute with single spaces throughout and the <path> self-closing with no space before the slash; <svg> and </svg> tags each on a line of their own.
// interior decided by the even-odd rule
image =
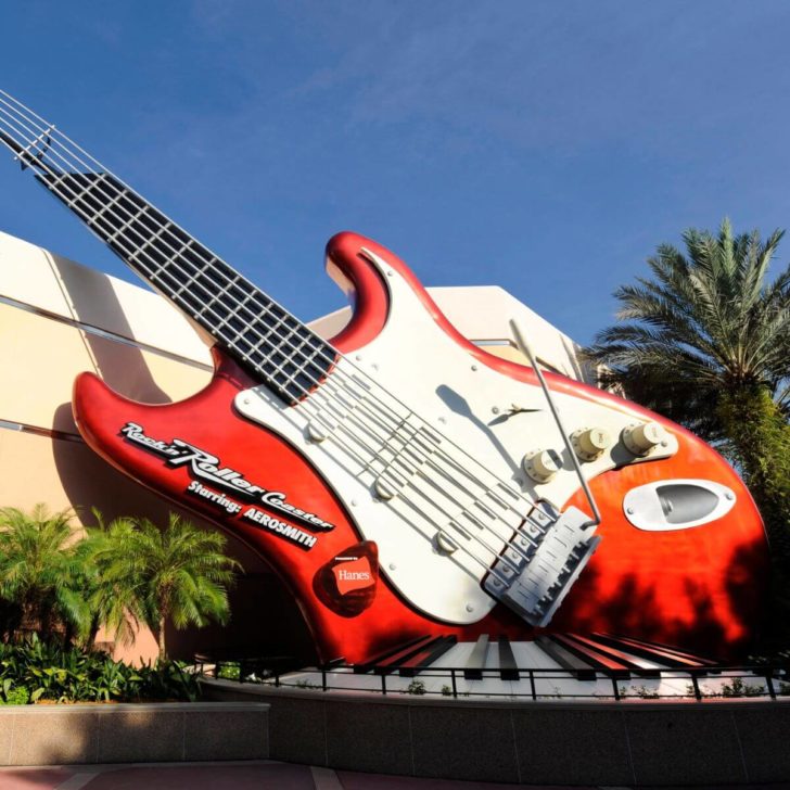
<svg viewBox="0 0 790 790">
<path fill-rule="evenodd" d="M 269 705 L 3 705 L 0 765 L 266 760 Z"/>
</svg>

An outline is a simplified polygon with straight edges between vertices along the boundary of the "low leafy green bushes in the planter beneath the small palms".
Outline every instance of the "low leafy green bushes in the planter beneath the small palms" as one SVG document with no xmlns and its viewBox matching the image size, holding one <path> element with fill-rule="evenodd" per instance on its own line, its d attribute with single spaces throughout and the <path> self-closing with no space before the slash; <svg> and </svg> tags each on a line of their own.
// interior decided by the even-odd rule
<svg viewBox="0 0 790 790">
<path fill-rule="evenodd" d="M 0 644 L 0 688 L 7 701 L 11 691 L 24 691 L 25 702 L 191 701 L 200 693 L 197 678 L 179 663 L 132 667 L 106 653 L 64 648 L 35 635 Z"/>
</svg>

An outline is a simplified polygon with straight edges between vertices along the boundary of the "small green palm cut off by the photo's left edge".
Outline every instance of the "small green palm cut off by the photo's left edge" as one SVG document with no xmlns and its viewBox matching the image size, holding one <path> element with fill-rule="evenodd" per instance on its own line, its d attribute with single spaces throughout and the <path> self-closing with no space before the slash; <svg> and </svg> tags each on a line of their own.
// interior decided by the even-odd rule
<svg viewBox="0 0 790 790">
<path fill-rule="evenodd" d="M 71 521 L 69 511 L 50 514 L 42 504 L 29 514 L 0 509 L 0 598 L 18 607 L 43 639 L 58 622 L 65 634 L 84 633 L 90 622 Z"/>
</svg>

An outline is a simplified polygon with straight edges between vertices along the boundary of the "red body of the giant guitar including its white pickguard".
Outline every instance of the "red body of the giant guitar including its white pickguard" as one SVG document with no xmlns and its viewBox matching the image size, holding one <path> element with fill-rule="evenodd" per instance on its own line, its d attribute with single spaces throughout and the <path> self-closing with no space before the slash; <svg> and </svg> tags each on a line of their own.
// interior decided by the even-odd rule
<svg viewBox="0 0 790 790">
<path fill-rule="evenodd" d="M 351 323 L 333 341 L 346 359 L 388 391 L 397 386 L 421 419 L 467 449 L 469 463 L 519 486 L 532 501 L 590 512 L 568 458 L 545 485 L 521 466 L 532 449 L 563 453 L 532 369 L 464 340 L 405 264 L 371 240 L 334 237 L 328 263 L 355 302 Z M 215 348 L 214 356 L 212 383 L 165 406 L 128 400 L 82 374 L 74 392 L 77 424 L 109 462 L 258 551 L 297 599 L 321 659 L 365 661 L 429 634 L 531 638 L 534 628 L 483 589 L 484 569 L 471 551 L 443 548 L 412 526 L 421 515 L 435 523 L 447 509 L 442 479 L 424 471 L 430 463 L 403 490 L 383 496 L 379 484 L 387 469 L 370 472 L 368 462 L 353 468 L 343 460 L 340 430 L 310 435 L 320 409 L 308 407 L 328 403 L 329 396 L 318 397 L 323 386 L 288 405 L 225 352 Z M 337 392 L 346 381 L 354 385 L 344 364 L 328 374 Z M 737 652 L 754 636 L 767 569 L 762 521 L 738 475 L 678 425 L 563 377 L 547 380 L 569 430 L 606 423 L 619 435 L 621 425 L 654 421 L 671 437 L 655 457 L 629 456 L 617 444 L 585 464 L 601 511 L 601 540 L 549 628 Z M 406 492 L 418 490 L 418 477 L 436 493 L 431 497 L 423 487 L 415 505 Z M 700 480 L 732 495 L 721 517 L 653 530 L 635 526 L 626 514 L 625 497 L 636 488 Z M 499 537 L 507 540 L 508 530 Z M 260 601 L 263 612 L 266 607 Z"/>
</svg>

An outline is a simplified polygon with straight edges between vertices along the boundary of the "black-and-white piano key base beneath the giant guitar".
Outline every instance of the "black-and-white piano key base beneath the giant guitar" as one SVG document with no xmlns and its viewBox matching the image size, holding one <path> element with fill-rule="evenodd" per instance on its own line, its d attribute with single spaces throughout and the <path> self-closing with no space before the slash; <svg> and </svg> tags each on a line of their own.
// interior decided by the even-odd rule
<svg viewBox="0 0 790 790">
<path fill-rule="evenodd" d="M 250 678 L 255 680 L 257 678 Z M 356 666 L 267 678 L 279 687 L 492 700 L 655 700 L 790 696 L 790 666 L 725 666 L 677 648 L 609 634 L 511 642 L 423 637 Z"/>
</svg>

